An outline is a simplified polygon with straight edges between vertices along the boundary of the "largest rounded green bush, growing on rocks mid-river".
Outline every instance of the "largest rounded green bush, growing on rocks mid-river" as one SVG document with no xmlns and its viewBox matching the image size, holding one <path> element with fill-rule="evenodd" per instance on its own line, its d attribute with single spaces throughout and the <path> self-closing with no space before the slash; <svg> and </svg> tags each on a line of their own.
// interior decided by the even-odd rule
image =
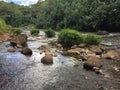
<svg viewBox="0 0 120 90">
<path fill-rule="evenodd" d="M 82 34 L 76 30 L 63 29 L 58 35 L 58 41 L 64 47 L 71 47 L 73 45 L 80 44 L 83 41 Z"/>
</svg>

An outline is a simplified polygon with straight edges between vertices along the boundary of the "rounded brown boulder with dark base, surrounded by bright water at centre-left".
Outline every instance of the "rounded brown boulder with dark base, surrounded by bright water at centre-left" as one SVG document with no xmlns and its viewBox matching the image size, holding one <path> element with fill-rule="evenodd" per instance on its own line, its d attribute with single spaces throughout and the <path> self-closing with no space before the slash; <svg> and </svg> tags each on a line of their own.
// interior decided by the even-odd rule
<svg viewBox="0 0 120 90">
<path fill-rule="evenodd" d="M 45 53 L 45 56 L 41 59 L 43 64 L 53 64 L 53 55 L 51 53 Z"/>
</svg>

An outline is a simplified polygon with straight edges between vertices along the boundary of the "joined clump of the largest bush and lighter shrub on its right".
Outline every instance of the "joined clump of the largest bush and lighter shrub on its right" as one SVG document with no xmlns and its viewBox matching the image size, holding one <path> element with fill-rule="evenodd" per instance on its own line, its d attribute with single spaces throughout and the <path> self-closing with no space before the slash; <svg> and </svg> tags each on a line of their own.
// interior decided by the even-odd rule
<svg viewBox="0 0 120 90">
<path fill-rule="evenodd" d="M 101 42 L 101 37 L 96 34 L 81 34 L 76 30 L 63 29 L 58 35 L 58 41 L 64 47 L 71 47 L 80 43 L 86 45 L 98 45 Z"/>
</svg>

